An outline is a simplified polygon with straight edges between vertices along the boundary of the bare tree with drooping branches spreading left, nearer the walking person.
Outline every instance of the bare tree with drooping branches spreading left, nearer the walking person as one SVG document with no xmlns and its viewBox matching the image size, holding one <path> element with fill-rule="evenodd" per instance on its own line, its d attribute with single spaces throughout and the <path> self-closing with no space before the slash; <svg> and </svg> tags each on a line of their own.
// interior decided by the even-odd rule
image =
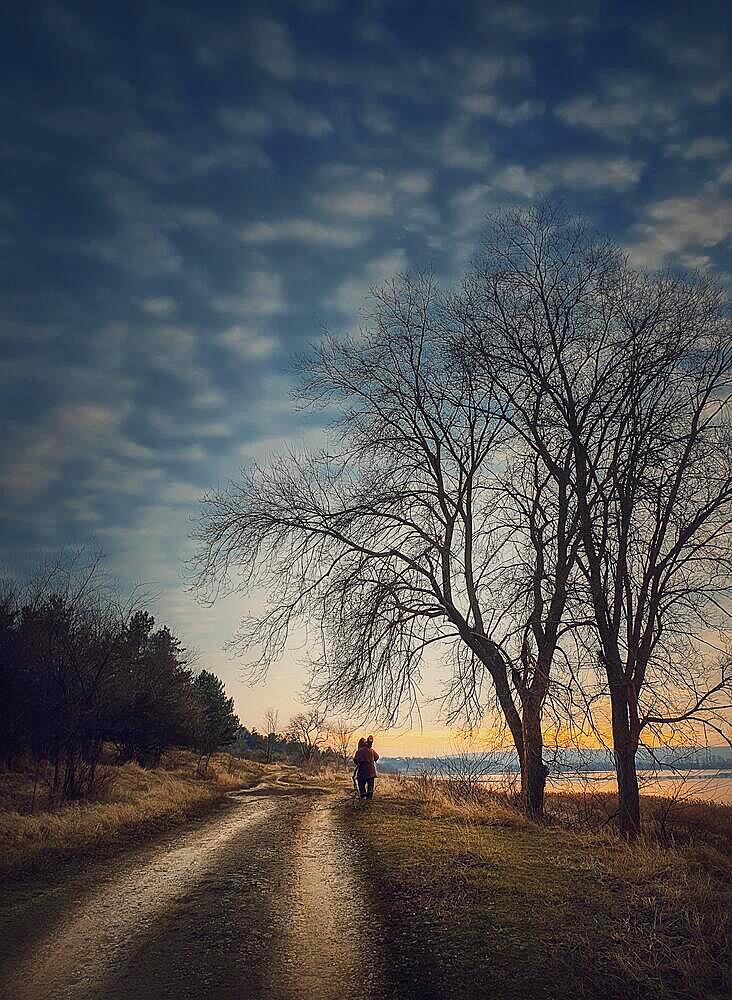
<svg viewBox="0 0 732 1000">
<path fill-rule="evenodd" d="M 511 451 L 490 383 L 448 349 L 455 314 L 431 277 L 374 295 L 358 338 L 328 338 L 301 364 L 302 398 L 335 417 L 332 447 L 254 465 L 208 494 L 195 583 L 208 599 L 262 586 L 270 604 L 233 641 L 257 651 L 255 673 L 295 622 L 310 623 L 321 642 L 314 703 L 386 724 L 416 709 L 423 656 L 437 644 L 453 670 L 450 717 L 476 722 L 495 705 L 538 816 L 541 713 L 576 523 L 561 488 L 552 494 L 531 456 Z"/>
</svg>

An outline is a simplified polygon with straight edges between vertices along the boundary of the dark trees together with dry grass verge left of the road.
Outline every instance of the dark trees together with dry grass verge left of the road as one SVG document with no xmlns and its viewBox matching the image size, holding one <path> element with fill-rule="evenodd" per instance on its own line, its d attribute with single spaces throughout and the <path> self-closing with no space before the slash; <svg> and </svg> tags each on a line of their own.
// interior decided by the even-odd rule
<svg viewBox="0 0 732 1000">
<path fill-rule="evenodd" d="M 82 551 L 0 587 L 0 873 L 197 815 L 268 770 L 221 680 Z"/>
</svg>

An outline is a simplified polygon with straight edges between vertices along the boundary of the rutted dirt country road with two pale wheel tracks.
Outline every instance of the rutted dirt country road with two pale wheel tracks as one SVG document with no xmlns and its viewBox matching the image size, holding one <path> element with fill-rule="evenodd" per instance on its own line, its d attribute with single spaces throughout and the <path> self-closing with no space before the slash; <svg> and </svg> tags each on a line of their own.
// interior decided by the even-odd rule
<svg viewBox="0 0 732 1000">
<path fill-rule="evenodd" d="M 280 782 L 0 899 L 3 1000 L 384 997 L 334 794 Z"/>
</svg>

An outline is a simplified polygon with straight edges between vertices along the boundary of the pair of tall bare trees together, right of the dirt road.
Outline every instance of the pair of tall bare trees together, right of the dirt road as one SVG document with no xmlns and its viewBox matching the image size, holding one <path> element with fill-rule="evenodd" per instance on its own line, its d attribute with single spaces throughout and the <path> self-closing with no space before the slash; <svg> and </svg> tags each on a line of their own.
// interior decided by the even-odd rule
<svg viewBox="0 0 732 1000">
<path fill-rule="evenodd" d="M 455 286 L 397 275 L 296 364 L 327 446 L 247 467 L 194 533 L 204 600 L 270 596 L 232 640 L 252 675 L 306 623 L 313 703 L 388 725 L 439 656 L 446 717 L 500 723 L 529 815 L 547 733 L 592 737 L 636 836 L 639 748 L 731 736 L 722 285 L 511 210 Z"/>
</svg>

